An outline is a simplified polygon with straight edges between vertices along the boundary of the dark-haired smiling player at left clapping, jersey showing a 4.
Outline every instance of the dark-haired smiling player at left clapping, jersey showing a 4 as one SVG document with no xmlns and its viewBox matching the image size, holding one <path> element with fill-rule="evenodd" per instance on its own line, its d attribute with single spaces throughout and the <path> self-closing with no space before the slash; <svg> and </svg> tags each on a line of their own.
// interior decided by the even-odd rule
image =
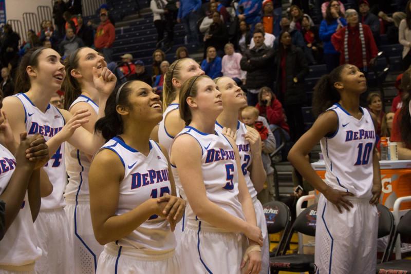
<svg viewBox="0 0 411 274">
<path fill-rule="evenodd" d="M 99 105 L 105 101 L 116 84 L 116 77 L 104 67 L 93 68 L 95 85 L 100 95 Z M 81 127 L 87 122 L 86 110 L 75 115 L 49 104 L 50 97 L 61 89 L 65 77 L 61 57 L 53 49 L 35 48 L 28 51 L 18 67 L 16 90 L 19 93 L 6 97 L 4 110 L 13 113 L 9 123 L 16 142 L 21 132 L 28 135 L 40 133 L 47 140 L 50 160 L 42 168 L 41 180 L 50 180 L 53 191 L 42 199 L 40 213 L 34 228 L 39 238 L 43 256 L 36 262 L 35 271 L 39 273 L 71 273 L 72 243 L 67 216 L 64 212 L 63 191 L 66 186 L 64 161 L 64 141 L 74 147 L 94 154 L 103 143 L 101 136 L 91 134 Z M 100 111 L 100 116 L 104 115 Z M 67 121 L 66 126 L 65 121 Z M 63 128 L 63 130 L 61 130 Z M 65 130 L 68 128 L 68 130 Z"/>
</svg>

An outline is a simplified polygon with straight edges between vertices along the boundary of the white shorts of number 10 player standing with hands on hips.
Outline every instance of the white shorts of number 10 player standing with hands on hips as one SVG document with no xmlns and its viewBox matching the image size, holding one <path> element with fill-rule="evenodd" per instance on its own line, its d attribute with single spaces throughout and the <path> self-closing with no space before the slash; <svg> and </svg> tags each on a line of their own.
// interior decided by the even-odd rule
<svg viewBox="0 0 411 274">
<path fill-rule="evenodd" d="M 347 197 L 346 197 L 347 198 Z M 321 194 L 315 230 L 315 273 L 376 272 L 377 207 L 369 199 L 349 197 L 353 208 L 335 205 Z M 319 271 L 319 272 L 318 272 Z"/>
</svg>

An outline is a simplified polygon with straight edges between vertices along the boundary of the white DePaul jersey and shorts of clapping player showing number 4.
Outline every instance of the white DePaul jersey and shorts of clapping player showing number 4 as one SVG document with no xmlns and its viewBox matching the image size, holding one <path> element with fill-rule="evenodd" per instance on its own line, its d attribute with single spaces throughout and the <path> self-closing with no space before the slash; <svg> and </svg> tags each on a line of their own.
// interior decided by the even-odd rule
<svg viewBox="0 0 411 274">
<path fill-rule="evenodd" d="M 26 94 L 18 93 L 14 96 L 23 104 L 28 135 L 40 133 L 47 141 L 63 128 L 65 121 L 56 107 L 49 104 L 46 111 L 42 112 Z M 39 216 L 34 222 L 39 246 L 43 250 L 43 256 L 35 263 L 35 271 L 39 273 L 71 273 L 72 271 L 72 240 L 63 209 L 65 206 L 63 192 L 67 183 L 64 151 L 64 144 L 62 144 L 43 167 L 53 185 L 53 191 L 42 198 Z"/>
</svg>

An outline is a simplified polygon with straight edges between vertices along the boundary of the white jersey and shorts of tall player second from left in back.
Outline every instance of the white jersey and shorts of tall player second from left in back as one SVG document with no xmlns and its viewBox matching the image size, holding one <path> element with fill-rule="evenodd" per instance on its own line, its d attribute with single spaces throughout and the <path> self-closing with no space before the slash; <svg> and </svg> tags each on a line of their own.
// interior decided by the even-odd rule
<svg viewBox="0 0 411 274">
<path fill-rule="evenodd" d="M 99 113 L 99 106 L 85 95 L 77 97 L 70 108 L 80 102 L 89 104 L 96 114 Z M 90 193 L 88 190 L 90 160 L 84 152 L 69 143 L 66 142 L 65 146 L 68 184 L 64 195 L 67 203 L 64 210 L 67 213 L 73 239 L 73 273 L 92 274 L 96 272 L 97 260 L 104 247 L 97 242 L 91 223 Z"/>
</svg>

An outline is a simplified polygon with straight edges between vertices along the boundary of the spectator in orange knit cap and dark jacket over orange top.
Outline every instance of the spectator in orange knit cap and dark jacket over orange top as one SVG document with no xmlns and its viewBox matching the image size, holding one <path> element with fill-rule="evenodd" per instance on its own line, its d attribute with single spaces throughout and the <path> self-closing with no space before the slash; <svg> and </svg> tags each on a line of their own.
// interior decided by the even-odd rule
<svg viewBox="0 0 411 274">
<path fill-rule="evenodd" d="M 279 35 L 281 21 L 281 13 L 283 8 L 281 7 L 281 0 L 264 0 L 263 1 L 263 18 L 262 22 L 264 30 L 268 33 Z"/>
</svg>

